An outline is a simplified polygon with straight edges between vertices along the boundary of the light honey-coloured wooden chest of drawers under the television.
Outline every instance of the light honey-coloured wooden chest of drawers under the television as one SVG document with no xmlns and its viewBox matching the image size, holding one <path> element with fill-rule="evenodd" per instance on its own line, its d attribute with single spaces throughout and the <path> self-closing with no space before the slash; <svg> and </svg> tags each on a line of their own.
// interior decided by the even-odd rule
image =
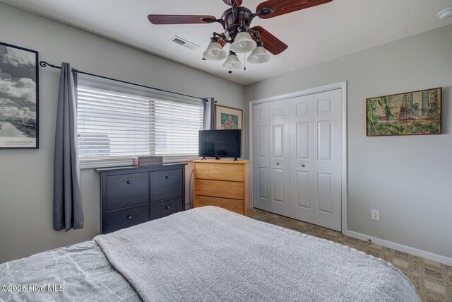
<svg viewBox="0 0 452 302">
<path fill-rule="evenodd" d="M 194 161 L 194 207 L 217 206 L 251 216 L 253 167 L 251 161 Z"/>
</svg>

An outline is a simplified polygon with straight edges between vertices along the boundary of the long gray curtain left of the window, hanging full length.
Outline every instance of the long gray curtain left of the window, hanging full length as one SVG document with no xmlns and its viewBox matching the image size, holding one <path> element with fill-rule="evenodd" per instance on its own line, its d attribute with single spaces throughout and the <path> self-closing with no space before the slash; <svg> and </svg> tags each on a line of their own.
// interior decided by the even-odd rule
<svg viewBox="0 0 452 302">
<path fill-rule="evenodd" d="M 77 149 L 77 74 L 61 64 L 54 152 L 54 230 L 83 228 Z"/>
</svg>

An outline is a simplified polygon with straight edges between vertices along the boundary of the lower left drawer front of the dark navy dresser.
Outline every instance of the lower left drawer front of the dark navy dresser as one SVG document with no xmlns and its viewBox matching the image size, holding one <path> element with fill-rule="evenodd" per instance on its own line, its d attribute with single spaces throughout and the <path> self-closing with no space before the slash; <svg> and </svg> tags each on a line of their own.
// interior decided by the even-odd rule
<svg viewBox="0 0 452 302">
<path fill-rule="evenodd" d="M 129 228 L 149 220 L 149 206 L 114 211 L 105 215 L 102 221 L 102 233 L 111 233 L 121 228 Z"/>
</svg>

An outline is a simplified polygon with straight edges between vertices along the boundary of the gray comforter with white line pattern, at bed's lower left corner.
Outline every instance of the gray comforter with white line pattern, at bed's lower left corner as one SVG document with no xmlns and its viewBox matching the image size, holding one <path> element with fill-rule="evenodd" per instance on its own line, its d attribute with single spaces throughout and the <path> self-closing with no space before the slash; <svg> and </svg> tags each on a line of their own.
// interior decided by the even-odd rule
<svg viewBox="0 0 452 302">
<path fill-rule="evenodd" d="M 93 240 L 1 264 L 0 286 L 0 301 L 141 301 Z"/>
</svg>

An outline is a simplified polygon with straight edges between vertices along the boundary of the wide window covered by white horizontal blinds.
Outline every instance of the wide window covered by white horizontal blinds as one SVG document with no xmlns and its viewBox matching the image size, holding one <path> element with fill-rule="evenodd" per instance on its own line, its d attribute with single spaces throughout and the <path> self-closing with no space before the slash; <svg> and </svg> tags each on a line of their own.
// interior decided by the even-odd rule
<svg viewBox="0 0 452 302">
<path fill-rule="evenodd" d="M 125 85 L 125 84 L 124 84 Z M 198 157 L 201 100 L 177 99 L 139 86 L 78 81 L 78 155 L 82 168 Z"/>
</svg>

